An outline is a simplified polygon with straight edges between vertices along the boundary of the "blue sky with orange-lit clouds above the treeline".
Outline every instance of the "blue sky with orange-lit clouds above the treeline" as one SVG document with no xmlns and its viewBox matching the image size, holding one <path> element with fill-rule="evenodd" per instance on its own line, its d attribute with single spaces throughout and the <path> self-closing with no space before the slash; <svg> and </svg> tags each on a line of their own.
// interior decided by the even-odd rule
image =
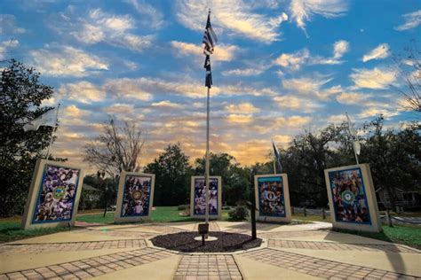
<svg viewBox="0 0 421 280">
<path fill-rule="evenodd" d="M 304 129 L 361 128 L 414 118 L 400 105 L 393 55 L 421 38 L 419 0 L 122 0 L 0 2 L 0 60 L 16 58 L 54 87 L 57 157 L 80 164 L 109 116 L 146 129 L 140 166 L 168 144 L 203 157 L 208 9 L 211 152 L 242 165 L 267 160 Z"/>
</svg>

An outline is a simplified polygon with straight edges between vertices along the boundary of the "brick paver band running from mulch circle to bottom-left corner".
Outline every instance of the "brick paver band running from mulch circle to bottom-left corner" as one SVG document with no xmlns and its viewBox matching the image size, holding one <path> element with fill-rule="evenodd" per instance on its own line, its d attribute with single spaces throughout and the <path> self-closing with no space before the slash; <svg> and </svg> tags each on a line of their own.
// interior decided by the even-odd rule
<svg viewBox="0 0 421 280">
<path fill-rule="evenodd" d="M 15 271 L 0 275 L 0 279 L 85 279 L 93 276 L 101 276 L 124 268 L 132 268 L 152 261 L 159 261 L 172 255 L 174 253 L 169 251 L 144 248 L 123 253 L 111 253 L 80 261 L 65 262 L 44 268 Z"/>
</svg>

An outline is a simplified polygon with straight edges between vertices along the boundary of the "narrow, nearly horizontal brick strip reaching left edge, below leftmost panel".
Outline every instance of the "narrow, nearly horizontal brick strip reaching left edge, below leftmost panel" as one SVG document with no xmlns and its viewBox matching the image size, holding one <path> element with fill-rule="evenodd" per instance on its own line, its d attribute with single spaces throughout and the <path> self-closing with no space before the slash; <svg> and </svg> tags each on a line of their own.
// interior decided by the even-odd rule
<svg viewBox="0 0 421 280">
<path fill-rule="evenodd" d="M 59 251 L 84 251 L 117 248 L 143 248 L 147 243 L 145 239 L 127 239 L 91 242 L 69 242 L 48 244 L 16 244 L 0 245 L 0 254 L 3 253 L 51 253 Z"/>
</svg>

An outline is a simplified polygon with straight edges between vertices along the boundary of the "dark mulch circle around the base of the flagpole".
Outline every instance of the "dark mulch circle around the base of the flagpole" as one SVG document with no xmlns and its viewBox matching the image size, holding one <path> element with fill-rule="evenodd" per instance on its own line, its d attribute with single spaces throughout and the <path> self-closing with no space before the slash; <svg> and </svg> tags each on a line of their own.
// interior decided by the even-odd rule
<svg viewBox="0 0 421 280">
<path fill-rule="evenodd" d="M 218 240 L 205 241 L 204 246 L 202 245 L 202 241 L 195 240 L 195 237 L 200 237 L 200 235 L 192 231 L 166 234 L 150 240 L 155 246 L 188 253 L 234 252 L 255 248 L 262 243 L 262 239 L 251 240 L 250 236 L 240 233 L 211 231 L 209 235 L 211 237 L 218 237 Z"/>
</svg>

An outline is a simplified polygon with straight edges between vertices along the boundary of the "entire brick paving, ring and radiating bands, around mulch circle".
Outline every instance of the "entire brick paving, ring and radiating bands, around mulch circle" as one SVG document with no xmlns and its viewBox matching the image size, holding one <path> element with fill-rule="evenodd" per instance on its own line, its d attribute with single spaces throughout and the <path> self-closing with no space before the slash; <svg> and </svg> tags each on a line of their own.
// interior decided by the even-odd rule
<svg viewBox="0 0 421 280">
<path fill-rule="evenodd" d="M 419 258 L 419 251 L 402 245 L 376 245 L 374 244 L 347 244 L 324 241 L 298 241 L 285 240 L 286 237 L 316 237 L 321 235 L 341 234 L 326 232 L 322 228 L 323 223 L 310 225 L 298 225 L 298 231 L 268 231 L 274 228 L 274 224 L 258 223 L 258 237 L 267 238 L 268 248 L 239 253 L 240 256 L 260 261 L 274 267 L 287 268 L 310 276 L 319 276 L 330 279 L 416 279 L 409 276 L 383 269 L 363 267 L 342 263 L 339 261 L 327 261 L 321 258 L 307 256 L 301 253 L 289 253 L 282 251 L 282 248 L 303 248 L 312 250 L 329 250 L 331 253 L 346 251 L 371 251 L 385 253 L 410 253 L 411 258 Z M 297 229 L 297 228 L 295 228 Z M 322 229 L 322 230 L 316 230 Z M 127 249 L 121 253 L 109 253 L 97 257 L 91 257 L 79 261 L 69 261 L 56 265 L 41 268 L 13 271 L 0 275 L 2 279 L 35 279 L 35 278 L 90 278 L 102 276 L 116 270 L 132 268 L 148 262 L 162 260 L 171 257 L 176 253 L 160 248 L 150 247 L 148 238 L 161 234 L 185 231 L 186 229 L 175 228 L 174 226 L 159 224 L 128 225 L 119 228 L 97 227 L 90 229 L 79 229 L 70 231 L 73 234 L 94 234 L 115 237 L 109 241 L 89 242 L 67 242 L 67 243 L 46 243 L 46 244 L 6 244 L 0 245 L 0 255 L 15 253 L 47 253 L 52 251 L 70 252 L 83 250 L 105 250 L 123 248 Z M 197 231 L 197 223 L 193 227 Z M 210 223 L 211 231 L 218 231 L 218 222 Z M 250 234 L 250 224 L 236 224 L 227 231 Z M 264 232 L 261 232 L 264 231 Z M 120 238 L 119 238 L 120 237 Z M 131 237 L 131 239 L 122 239 Z M 80 239 L 79 239 L 80 240 Z M 24 242 L 24 241 L 23 241 Z M 149 245 L 149 246 L 148 246 Z M 233 254 L 182 254 L 174 279 L 242 279 L 242 272 L 235 263 Z M 7 256 L 6 256 L 7 257 Z M 176 262 L 173 263 L 176 265 Z M 163 268 L 165 269 L 165 268 Z M 244 268 L 246 269 L 246 268 Z M 413 270 L 412 270 L 413 271 Z M 141 277 L 141 276 L 134 276 Z M 419 279 L 419 278 L 418 278 Z"/>
</svg>

